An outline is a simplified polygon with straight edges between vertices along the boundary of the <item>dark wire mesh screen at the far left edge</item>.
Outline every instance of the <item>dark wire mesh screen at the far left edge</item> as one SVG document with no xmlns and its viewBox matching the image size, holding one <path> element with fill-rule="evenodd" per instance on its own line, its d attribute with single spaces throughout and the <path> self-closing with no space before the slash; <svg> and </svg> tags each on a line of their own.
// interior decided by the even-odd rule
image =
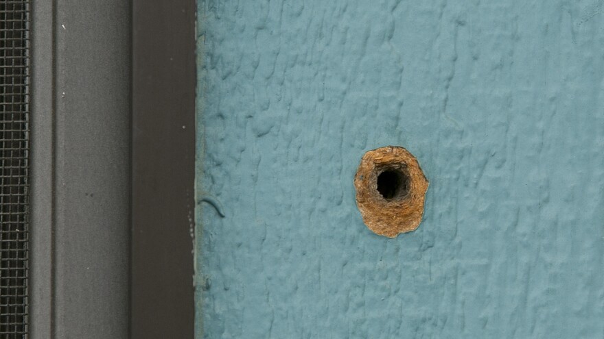
<svg viewBox="0 0 604 339">
<path fill-rule="evenodd" d="M 0 338 L 27 338 L 29 21 L 29 0 L 0 0 Z"/>
</svg>

